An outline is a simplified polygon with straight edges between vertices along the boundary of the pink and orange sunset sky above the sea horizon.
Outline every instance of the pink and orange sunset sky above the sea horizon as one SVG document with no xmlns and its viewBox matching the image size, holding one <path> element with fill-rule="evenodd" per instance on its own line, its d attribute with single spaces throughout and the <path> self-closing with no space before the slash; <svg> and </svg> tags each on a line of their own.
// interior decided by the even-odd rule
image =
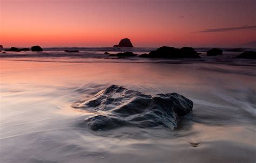
<svg viewBox="0 0 256 163">
<path fill-rule="evenodd" d="M 0 0 L 4 47 L 232 47 L 256 40 L 254 0 Z"/>
</svg>

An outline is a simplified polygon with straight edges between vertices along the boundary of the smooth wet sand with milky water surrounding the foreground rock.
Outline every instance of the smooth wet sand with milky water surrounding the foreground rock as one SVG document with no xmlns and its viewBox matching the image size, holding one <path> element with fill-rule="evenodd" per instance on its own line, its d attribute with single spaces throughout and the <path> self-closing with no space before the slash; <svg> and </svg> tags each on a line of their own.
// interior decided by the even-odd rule
<svg viewBox="0 0 256 163">
<path fill-rule="evenodd" d="M 255 162 L 254 66 L 214 63 L 0 61 L 1 162 Z M 184 95 L 191 114 L 174 130 L 78 124 L 71 107 L 112 84 Z"/>
</svg>

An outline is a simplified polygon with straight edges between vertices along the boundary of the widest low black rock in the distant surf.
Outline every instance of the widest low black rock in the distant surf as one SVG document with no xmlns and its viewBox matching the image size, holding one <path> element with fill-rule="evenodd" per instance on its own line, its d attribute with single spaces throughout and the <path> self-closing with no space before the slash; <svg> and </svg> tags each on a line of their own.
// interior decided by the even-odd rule
<svg viewBox="0 0 256 163">
<path fill-rule="evenodd" d="M 149 54 L 142 54 L 143 58 L 201 58 L 199 53 L 194 51 L 192 47 L 174 48 L 169 46 L 159 47 L 156 51 Z"/>
</svg>

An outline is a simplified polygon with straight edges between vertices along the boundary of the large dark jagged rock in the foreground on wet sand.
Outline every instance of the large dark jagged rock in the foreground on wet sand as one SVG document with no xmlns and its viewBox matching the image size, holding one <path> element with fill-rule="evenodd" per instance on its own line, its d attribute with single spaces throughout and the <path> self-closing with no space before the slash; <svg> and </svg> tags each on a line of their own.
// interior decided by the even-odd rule
<svg viewBox="0 0 256 163">
<path fill-rule="evenodd" d="M 72 107 L 97 112 L 82 122 L 92 130 L 159 125 L 173 129 L 180 117 L 192 111 L 193 102 L 177 93 L 151 96 L 112 85 L 89 100 L 74 103 Z"/>
</svg>

